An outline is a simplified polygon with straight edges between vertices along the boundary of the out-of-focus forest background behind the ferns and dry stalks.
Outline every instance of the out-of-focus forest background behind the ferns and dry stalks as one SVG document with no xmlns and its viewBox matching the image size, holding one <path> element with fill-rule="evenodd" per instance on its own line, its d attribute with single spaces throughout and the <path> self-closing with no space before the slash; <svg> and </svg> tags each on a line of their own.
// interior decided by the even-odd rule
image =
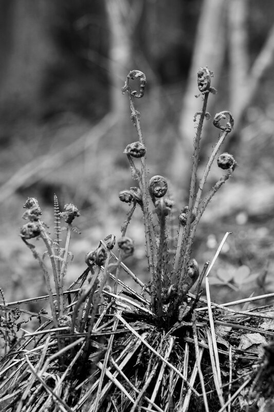
<svg viewBox="0 0 274 412">
<path fill-rule="evenodd" d="M 0 284 L 7 301 L 45 293 L 38 263 L 19 237 L 27 196 L 38 198 L 51 232 L 53 193 L 61 207 L 72 202 L 81 212 L 68 283 L 100 239 L 119 236 L 127 206 L 118 193 L 135 185 L 123 150 L 137 136 L 121 94 L 132 69 L 147 76 L 136 107 L 150 176 L 168 178 L 178 210 L 187 204 L 200 66 L 214 71 L 211 115 L 234 116 L 222 151 L 239 167 L 210 203 L 193 257 L 202 267 L 232 231 L 212 270 L 215 300 L 273 292 L 271 0 L 2 0 L 0 55 Z M 207 121 L 202 170 L 217 137 Z M 214 167 L 208 188 L 220 175 Z M 139 210 L 129 236 L 136 253 L 127 264 L 148 280 Z"/>
</svg>

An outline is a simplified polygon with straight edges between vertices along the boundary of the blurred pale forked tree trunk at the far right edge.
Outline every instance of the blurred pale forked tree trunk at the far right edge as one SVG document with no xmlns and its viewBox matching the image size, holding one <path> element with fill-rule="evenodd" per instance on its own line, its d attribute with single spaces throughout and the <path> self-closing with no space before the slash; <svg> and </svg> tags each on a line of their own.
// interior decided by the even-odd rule
<svg viewBox="0 0 274 412">
<path fill-rule="evenodd" d="M 234 130 L 224 144 L 225 151 L 235 152 L 238 144 L 238 131 L 243 116 L 255 93 L 258 91 L 265 71 L 274 57 L 274 26 L 250 68 L 248 52 L 248 0 L 231 0 L 228 8 L 229 46 L 229 110 L 235 120 Z"/>
</svg>

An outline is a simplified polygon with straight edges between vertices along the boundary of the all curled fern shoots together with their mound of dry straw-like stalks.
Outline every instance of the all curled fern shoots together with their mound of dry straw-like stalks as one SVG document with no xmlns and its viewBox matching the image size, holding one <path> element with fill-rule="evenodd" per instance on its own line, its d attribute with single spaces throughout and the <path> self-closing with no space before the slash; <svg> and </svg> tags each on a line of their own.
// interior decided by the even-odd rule
<svg viewBox="0 0 274 412">
<path fill-rule="evenodd" d="M 233 128 L 230 112 L 214 116 L 213 125 L 221 132 L 198 181 L 203 123 L 211 118 L 206 111 L 207 101 L 210 93 L 216 93 L 211 77 L 207 67 L 198 70 L 203 108 L 194 117 L 199 121 L 189 202 L 178 214 L 175 247 L 168 230 L 174 207 L 168 183 L 161 175 L 152 176 L 148 182 L 147 149 L 140 113 L 135 108 L 135 98 L 143 96 L 146 83 L 139 70 L 130 71 L 122 87 L 122 93 L 129 97 L 131 121 L 138 135 L 138 141 L 124 150 L 137 185 L 119 193 L 120 200 L 129 204 L 130 210 L 117 240 L 118 256 L 113 252 L 116 238 L 108 235 L 87 253 L 86 270 L 65 290 L 71 232 L 78 231 L 72 223 L 79 217 L 79 210 L 67 204 L 61 212 L 54 195 L 56 236 L 52 239 L 41 220 L 38 201 L 35 198 L 26 201 L 23 218 L 27 223 L 20 234 L 39 261 L 48 295 L 7 303 L 1 291 L 3 411 L 251 412 L 271 407 L 272 312 L 268 306 L 255 311 L 229 308 L 242 301 L 224 305 L 211 302 L 208 274 L 228 233 L 211 264 L 206 262 L 202 271 L 192 256 L 197 225 L 216 191 L 236 167 L 231 154 L 219 155 L 217 164 L 225 174 L 204 194 L 210 168 Z M 134 79 L 140 80 L 139 92 L 131 88 L 130 81 Z M 126 236 L 126 230 L 137 207 L 143 213 L 147 283 L 124 264 L 134 253 L 134 241 Z M 66 224 L 64 247 L 62 219 Z M 34 238 L 45 243 L 44 255 L 31 242 Z M 140 293 L 120 280 L 121 270 L 141 286 Z M 204 277 L 207 300 L 200 297 Z M 109 279 L 114 281 L 113 289 Z M 191 293 L 195 283 L 195 291 Z M 45 310 L 30 313 L 22 309 L 27 301 L 42 299 L 49 301 L 50 314 Z M 252 299 L 255 298 L 244 301 Z M 22 320 L 24 313 L 28 313 L 29 319 Z M 38 318 L 39 328 L 19 336 L 22 324 L 32 317 Z"/>
</svg>

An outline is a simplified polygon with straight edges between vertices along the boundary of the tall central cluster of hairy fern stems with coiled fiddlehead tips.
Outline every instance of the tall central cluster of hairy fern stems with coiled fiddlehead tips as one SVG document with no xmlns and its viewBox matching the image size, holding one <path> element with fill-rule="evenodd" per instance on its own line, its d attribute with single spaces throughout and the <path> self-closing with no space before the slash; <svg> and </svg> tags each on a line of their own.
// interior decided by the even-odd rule
<svg viewBox="0 0 274 412">
<path fill-rule="evenodd" d="M 171 210 L 172 204 L 168 198 L 164 197 L 167 193 L 168 185 L 165 178 L 157 175 L 151 178 L 147 186 L 144 157 L 146 149 L 140 127 L 140 114 L 136 111 L 134 106 L 134 97 L 140 98 L 144 94 L 144 86 L 146 81 L 144 74 L 139 70 L 130 71 L 129 75 L 127 75 L 125 84 L 122 87 L 122 93 L 127 92 L 129 94 L 131 119 L 137 129 L 137 134 L 139 137 L 139 141 L 128 145 L 124 153 L 126 153 L 129 159 L 132 174 L 139 183 L 139 189 L 131 188 L 130 190 L 124 190 L 120 192 L 119 197 L 122 201 L 127 203 L 131 203 L 133 200 L 135 201 L 134 207 L 129 213 L 130 217 L 132 216 L 136 203 L 141 206 L 143 211 L 145 241 L 147 245 L 147 256 L 150 271 L 151 307 L 156 315 L 158 325 L 163 324 L 165 319 L 168 319 L 167 324 L 170 325 L 175 319 L 179 318 L 181 320 L 189 313 L 190 307 L 187 304 L 187 293 L 195 281 L 199 278 L 198 264 L 195 259 L 190 259 L 195 231 L 206 206 L 212 199 L 212 196 L 231 176 L 236 165 L 233 158 L 228 159 L 230 156 L 228 154 L 223 154 L 222 160 L 218 159 L 218 164 L 221 164 L 220 167 L 228 170 L 227 174 L 213 186 L 205 201 L 203 201 L 202 194 L 211 165 L 226 136 L 231 132 L 234 120 L 231 113 L 228 111 L 220 112 L 215 115 L 213 124 L 215 127 L 222 130 L 223 134 L 217 141 L 212 151 L 203 177 L 200 180 L 196 191 L 200 140 L 202 138 L 203 124 L 205 119 L 208 120 L 211 117 L 207 112 L 207 102 L 209 94 L 216 93 L 216 89 L 211 86 L 211 78 L 213 77 L 213 73 L 207 67 L 199 68 L 197 75 L 198 89 L 200 95 L 203 96 L 203 108 L 202 111 L 197 112 L 194 117 L 194 119 L 196 119 L 196 117 L 199 116 L 199 121 L 194 137 L 194 153 L 189 189 L 189 202 L 188 206 L 185 206 L 179 215 L 178 239 L 175 248 L 176 251 L 172 273 L 168 272 L 170 258 L 168 255 L 166 235 L 166 218 Z M 129 85 L 129 80 L 136 78 L 140 79 L 140 93 L 137 93 L 136 91 L 133 92 Z M 229 117 L 229 120 L 225 126 L 222 126 L 220 122 L 222 119 L 226 119 L 226 117 Z M 141 158 L 141 171 L 137 169 L 134 162 L 134 158 L 138 157 Z M 155 211 L 157 212 L 159 219 L 159 235 L 157 236 L 157 242 L 148 203 L 148 191 L 156 208 Z M 125 221 L 124 227 L 127 227 L 126 222 L 128 221 Z M 204 271 L 201 276 L 203 274 Z"/>
</svg>

